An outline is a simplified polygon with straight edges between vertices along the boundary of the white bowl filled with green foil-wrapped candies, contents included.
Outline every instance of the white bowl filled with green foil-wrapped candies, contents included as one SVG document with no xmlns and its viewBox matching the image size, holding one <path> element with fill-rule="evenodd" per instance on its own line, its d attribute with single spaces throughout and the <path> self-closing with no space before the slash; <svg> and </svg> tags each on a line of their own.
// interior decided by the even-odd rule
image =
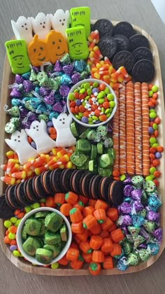
<svg viewBox="0 0 165 294">
<path fill-rule="evenodd" d="M 57 209 L 40 207 L 22 218 L 17 228 L 17 246 L 34 265 L 60 260 L 71 245 L 71 225 Z"/>
</svg>

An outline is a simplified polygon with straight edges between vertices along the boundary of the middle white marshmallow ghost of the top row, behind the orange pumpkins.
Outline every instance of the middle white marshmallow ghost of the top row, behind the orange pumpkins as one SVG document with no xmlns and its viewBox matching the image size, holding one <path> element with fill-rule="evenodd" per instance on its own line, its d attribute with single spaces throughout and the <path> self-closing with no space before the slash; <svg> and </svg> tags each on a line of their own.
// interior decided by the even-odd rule
<svg viewBox="0 0 165 294">
<path fill-rule="evenodd" d="M 45 39 L 51 29 L 50 15 L 38 13 L 36 18 L 31 18 L 34 33 L 38 35 L 41 40 Z"/>
</svg>

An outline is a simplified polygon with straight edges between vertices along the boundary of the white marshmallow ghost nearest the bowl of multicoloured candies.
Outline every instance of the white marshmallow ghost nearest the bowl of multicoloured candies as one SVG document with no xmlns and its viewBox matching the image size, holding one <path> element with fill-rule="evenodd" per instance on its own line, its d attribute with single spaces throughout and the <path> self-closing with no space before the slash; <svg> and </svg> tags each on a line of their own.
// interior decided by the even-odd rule
<svg viewBox="0 0 165 294">
<path fill-rule="evenodd" d="M 72 122 L 71 115 L 67 116 L 66 113 L 59 114 L 58 118 L 52 118 L 53 126 L 57 132 L 56 146 L 57 147 L 70 147 L 76 145 L 76 138 L 70 129 Z"/>
</svg>

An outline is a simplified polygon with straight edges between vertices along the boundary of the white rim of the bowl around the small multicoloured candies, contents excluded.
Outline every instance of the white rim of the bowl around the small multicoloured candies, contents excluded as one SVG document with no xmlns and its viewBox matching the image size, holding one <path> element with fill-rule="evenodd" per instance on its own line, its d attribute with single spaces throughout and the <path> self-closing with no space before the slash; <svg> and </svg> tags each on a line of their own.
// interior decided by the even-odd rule
<svg viewBox="0 0 165 294">
<path fill-rule="evenodd" d="M 77 87 L 80 87 L 80 85 L 82 85 L 82 83 L 99 83 L 99 84 L 105 84 L 106 87 L 109 88 L 110 93 L 114 95 L 114 102 L 115 102 L 115 107 L 113 108 L 113 111 L 111 112 L 110 117 L 101 123 L 96 123 L 94 125 L 90 125 L 89 123 L 82 123 L 81 120 L 78 120 L 76 118 L 76 116 L 74 116 L 74 114 L 71 112 L 70 106 L 69 106 L 69 94 L 71 94 L 72 92 L 74 92 L 74 90 L 76 90 Z M 108 85 L 107 83 L 103 82 L 103 80 L 97 80 L 96 78 L 86 78 L 85 80 L 80 80 L 80 82 L 76 83 L 75 85 L 73 85 L 73 87 L 71 87 L 71 90 L 69 91 L 68 97 L 67 97 L 67 107 L 68 107 L 68 111 L 71 114 L 71 117 L 73 118 L 73 120 L 75 120 L 78 124 L 83 125 L 83 127 L 99 127 L 99 125 L 105 125 L 106 123 L 108 123 L 114 116 L 116 109 L 117 109 L 117 98 L 115 95 L 115 92 L 113 91 L 112 87 L 110 87 L 110 85 Z"/>
</svg>

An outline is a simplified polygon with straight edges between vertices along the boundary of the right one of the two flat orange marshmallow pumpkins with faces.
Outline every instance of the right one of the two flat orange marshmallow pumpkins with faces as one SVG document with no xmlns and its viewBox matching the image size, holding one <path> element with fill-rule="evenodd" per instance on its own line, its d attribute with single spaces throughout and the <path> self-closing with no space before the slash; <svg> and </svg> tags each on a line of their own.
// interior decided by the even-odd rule
<svg viewBox="0 0 165 294">
<path fill-rule="evenodd" d="M 60 59 L 63 55 L 69 52 L 66 38 L 53 29 L 46 37 L 47 50 L 50 55 L 50 61 L 55 63 L 57 59 Z"/>
</svg>

